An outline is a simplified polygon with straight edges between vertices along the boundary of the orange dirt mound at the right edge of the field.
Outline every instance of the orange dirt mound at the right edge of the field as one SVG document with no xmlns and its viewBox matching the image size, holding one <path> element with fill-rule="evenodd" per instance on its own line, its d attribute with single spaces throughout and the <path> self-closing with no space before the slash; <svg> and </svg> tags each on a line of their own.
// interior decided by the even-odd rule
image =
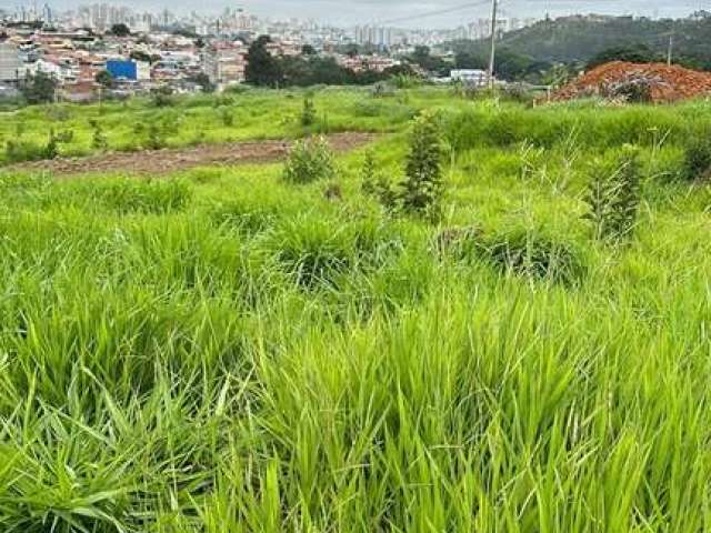
<svg viewBox="0 0 711 533">
<path fill-rule="evenodd" d="M 555 92 L 553 100 L 595 95 L 625 99 L 635 90 L 644 93 L 643 100 L 652 102 L 703 97 L 711 94 L 711 73 L 664 63 L 613 61 L 585 72 Z"/>
</svg>

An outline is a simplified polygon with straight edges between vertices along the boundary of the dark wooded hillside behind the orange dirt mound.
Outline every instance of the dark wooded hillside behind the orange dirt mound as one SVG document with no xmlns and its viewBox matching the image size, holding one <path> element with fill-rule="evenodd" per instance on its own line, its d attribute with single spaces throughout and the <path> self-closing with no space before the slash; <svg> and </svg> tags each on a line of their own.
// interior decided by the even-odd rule
<svg viewBox="0 0 711 533">
<path fill-rule="evenodd" d="M 665 54 L 672 30 L 678 54 L 692 58 L 700 67 L 711 66 L 711 14 L 704 12 L 680 20 L 602 16 L 548 19 L 507 33 L 500 46 L 537 61 L 587 62 L 604 50 L 639 44 Z M 485 43 L 458 41 L 451 47 L 458 52 L 477 53 Z"/>
</svg>

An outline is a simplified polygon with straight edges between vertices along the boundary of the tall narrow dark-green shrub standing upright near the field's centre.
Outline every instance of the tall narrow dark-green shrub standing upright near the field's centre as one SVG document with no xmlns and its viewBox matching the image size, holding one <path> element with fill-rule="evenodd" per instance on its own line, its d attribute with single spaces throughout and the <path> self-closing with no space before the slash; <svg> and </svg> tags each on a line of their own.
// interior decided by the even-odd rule
<svg viewBox="0 0 711 533">
<path fill-rule="evenodd" d="M 410 135 L 405 180 L 400 184 L 400 203 L 404 211 L 435 218 L 443 193 L 442 130 L 435 114 L 422 113 Z"/>
</svg>

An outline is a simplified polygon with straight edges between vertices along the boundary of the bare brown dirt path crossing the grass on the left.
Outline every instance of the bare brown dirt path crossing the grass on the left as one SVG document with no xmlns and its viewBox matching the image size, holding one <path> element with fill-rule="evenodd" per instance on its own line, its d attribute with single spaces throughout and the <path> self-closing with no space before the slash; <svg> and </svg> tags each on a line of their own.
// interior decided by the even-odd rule
<svg viewBox="0 0 711 533">
<path fill-rule="evenodd" d="M 328 135 L 327 139 L 333 150 L 347 152 L 373 141 L 375 137 L 373 133 L 334 133 Z M 111 152 L 88 158 L 19 163 L 0 168 L 0 171 L 46 171 L 54 175 L 84 174 L 89 172 L 164 174 L 212 164 L 232 165 L 280 161 L 284 158 L 291 144 L 291 141 L 254 141 L 140 152 Z"/>
</svg>

